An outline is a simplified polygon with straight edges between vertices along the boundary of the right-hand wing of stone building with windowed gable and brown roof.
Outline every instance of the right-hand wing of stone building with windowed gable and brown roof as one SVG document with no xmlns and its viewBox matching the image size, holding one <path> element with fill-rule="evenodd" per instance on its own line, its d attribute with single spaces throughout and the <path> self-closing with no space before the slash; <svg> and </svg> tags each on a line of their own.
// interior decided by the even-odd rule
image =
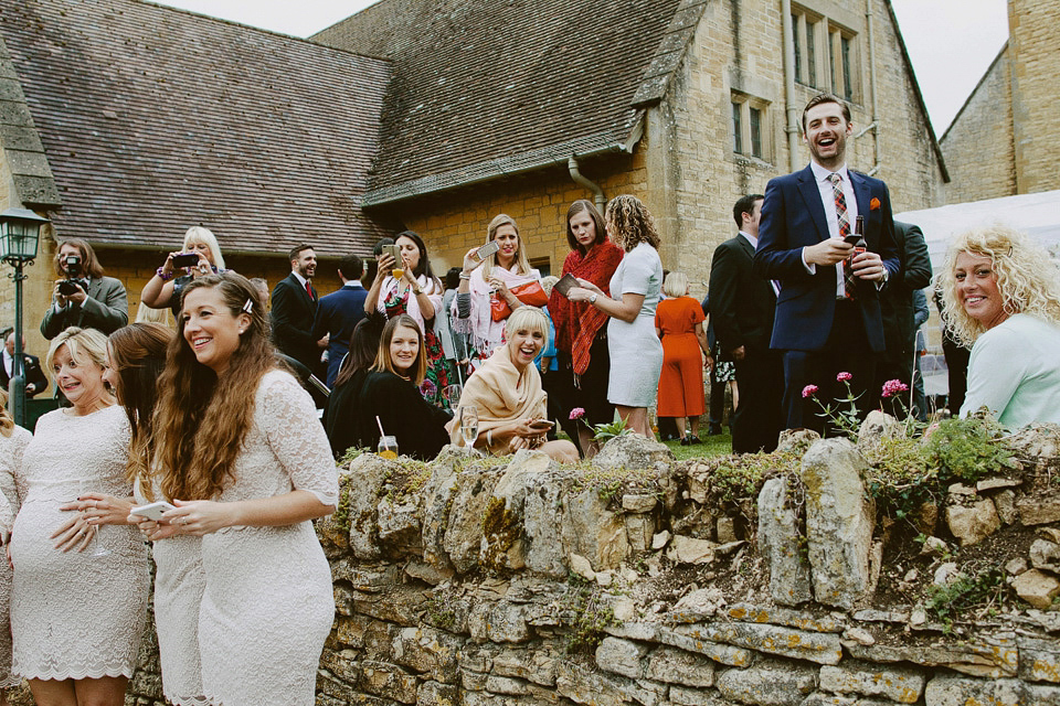
<svg viewBox="0 0 1060 706">
<path fill-rule="evenodd" d="M 946 179 L 890 3 L 787 7 L 382 0 L 312 39 L 393 62 L 364 207 L 422 233 L 437 265 L 506 212 L 531 259 L 559 270 L 585 178 L 646 202 L 664 266 L 702 296 L 735 200 L 808 162 L 786 126 L 820 89 L 849 99 L 850 164 L 884 179 L 897 210 L 934 205 Z"/>
</svg>

